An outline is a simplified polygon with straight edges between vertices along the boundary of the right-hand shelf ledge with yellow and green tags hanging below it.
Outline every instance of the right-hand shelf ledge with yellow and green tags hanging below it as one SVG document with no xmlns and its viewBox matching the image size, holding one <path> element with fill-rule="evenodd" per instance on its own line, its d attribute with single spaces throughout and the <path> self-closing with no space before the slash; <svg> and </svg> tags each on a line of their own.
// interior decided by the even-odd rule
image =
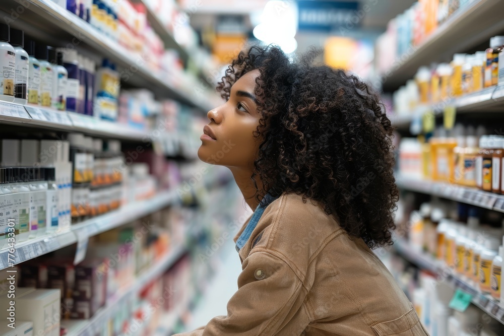
<svg viewBox="0 0 504 336">
<path fill-rule="evenodd" d="M 447 106 L 455 106 L 457 114 L 502 112 L 502 109 L 504 109 L 504 85 L 486 88 L 438 104 L 421 105 L 408 115 L 393 116 L 391 121 L 395 127 L 406 128 L 409 127 L 414 118 L 421 118 L 425 113 L 432 112 L 435 116 L 442 116 Z"/>
</svg>

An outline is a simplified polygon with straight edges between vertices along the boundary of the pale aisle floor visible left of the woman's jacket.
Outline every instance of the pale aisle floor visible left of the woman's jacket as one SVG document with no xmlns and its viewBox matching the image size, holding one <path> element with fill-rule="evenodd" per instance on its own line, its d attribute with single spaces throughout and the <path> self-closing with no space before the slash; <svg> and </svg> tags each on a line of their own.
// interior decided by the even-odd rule
<svg viewBox="0 0 504 336">
<path fill-rule="evenodd" d="M 221 265 L 217 274 L 208 285 L 205 297 L 193 312 L 186 331 L 194 330 L 207 324 L 213 317 L 227 315 L 227 302 L 238 290 L 238 276 L 241 264 L 234 242 L 229 240 L 219 256 Z"/>
</svg>

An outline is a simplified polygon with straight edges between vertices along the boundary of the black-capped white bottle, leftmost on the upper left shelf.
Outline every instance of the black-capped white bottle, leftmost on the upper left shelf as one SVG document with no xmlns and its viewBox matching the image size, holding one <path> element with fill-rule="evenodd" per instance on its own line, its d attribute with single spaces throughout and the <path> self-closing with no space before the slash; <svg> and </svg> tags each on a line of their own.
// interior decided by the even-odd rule
<svg viewBox="0 0 504 336">
<path fill-rule="evenodd" d="M 14 77 L 16 74 L 16 51 L 9 44 L 11 30 L 9 25 L 0 23 L 0 69 L 3 71 L 0 82 L 0 100 L 14 101 Z"/>
</svg>

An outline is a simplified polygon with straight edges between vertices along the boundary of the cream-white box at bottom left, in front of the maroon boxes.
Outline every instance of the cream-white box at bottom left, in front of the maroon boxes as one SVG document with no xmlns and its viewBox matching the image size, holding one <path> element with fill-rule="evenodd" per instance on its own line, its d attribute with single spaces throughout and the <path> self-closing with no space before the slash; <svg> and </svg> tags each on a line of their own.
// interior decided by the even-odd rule
<svg viewBox="0 0 504 336">
<path fill-rule="evenodd" d="M 21 297 L 16 295 L 16 318 L 32 320 L 33 333 L 37 336 L 59 336 L 60 302 L 59 290 L 55 289 L 36 289 Z"/>
</svg>

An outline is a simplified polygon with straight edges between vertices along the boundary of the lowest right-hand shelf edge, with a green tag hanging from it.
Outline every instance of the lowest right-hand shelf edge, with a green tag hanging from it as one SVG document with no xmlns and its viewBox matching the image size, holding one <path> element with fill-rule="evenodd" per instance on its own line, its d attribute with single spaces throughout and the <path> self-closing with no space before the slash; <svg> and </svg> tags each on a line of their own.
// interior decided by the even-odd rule
<svg viewBox="0 0 504 336">
<path fill-rule="evenodd" d="M 483 294 L 477 285 L 464 276 L 455 274 L 453 269 L 439 260 L 434 260 L 423 252 L 414 250 L 408 242 L 402 238 L 396 238 L 392 247 L 406 260 L 416 264 L 422 270 L 427 270 L 438 275 L 437 281 L 446 282 L 451 288 L 461 289 L 470 293 L 471 300 L 476 306 L 494 319 L 504 324 L 504 306 L 493 299 L 489 294 Z"/>
</svg>

